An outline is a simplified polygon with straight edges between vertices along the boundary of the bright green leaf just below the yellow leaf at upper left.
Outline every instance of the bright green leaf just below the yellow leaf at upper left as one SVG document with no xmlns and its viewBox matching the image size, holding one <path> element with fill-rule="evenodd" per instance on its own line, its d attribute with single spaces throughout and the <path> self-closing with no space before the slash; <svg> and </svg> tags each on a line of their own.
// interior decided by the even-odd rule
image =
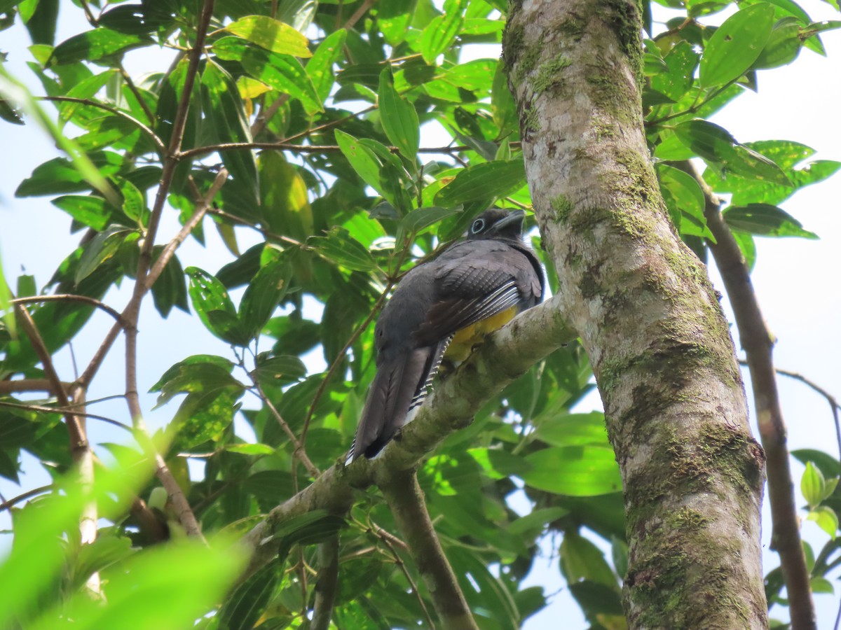
<svg viewBox="0 0 841 630">
<path fill-rule="evenodd" d="M 280 55 L 251 46 L 236 37 L 223 37 L 215 41 L 213 50 L 220 59 L 240 61 L 246 72 L 257 81 L 299 99 L 307 113 L 324 111 L 304 66 L 292 55 Z"/>
</svg>

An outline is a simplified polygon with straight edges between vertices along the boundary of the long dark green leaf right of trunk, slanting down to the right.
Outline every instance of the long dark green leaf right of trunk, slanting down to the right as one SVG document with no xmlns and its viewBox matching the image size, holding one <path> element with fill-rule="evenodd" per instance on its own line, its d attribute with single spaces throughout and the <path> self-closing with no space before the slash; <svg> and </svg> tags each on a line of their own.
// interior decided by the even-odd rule
<svg viewBox="0 0 841 630">
<path fill-rule="evenodd" d="M 679 123 L 674 134 L 680 142 L 705 160 L 720 164 L 724 171 L 760 181 L 791 186 L 785 172 L 764 155 L 738 144 L 736 139 L 717 124 L 695 119 Z"/>
</svg>

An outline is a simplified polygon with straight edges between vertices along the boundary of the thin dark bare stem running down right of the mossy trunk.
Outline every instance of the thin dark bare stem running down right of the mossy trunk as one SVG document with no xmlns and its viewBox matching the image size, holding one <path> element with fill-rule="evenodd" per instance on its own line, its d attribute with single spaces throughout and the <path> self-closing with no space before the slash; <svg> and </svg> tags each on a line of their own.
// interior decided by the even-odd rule
<svg viewBox="0 0 841 630">
<path fill-rule="evenodd" d="M 765 325 L 759 302 L 750 281 L 750 271 L 733 233 L 724 223 L 721 202 L 690 161 L 677 164 L 701 186 L 706 201 L 706 224 L 716 239 L 708 242 L 727 296 L 733 307 L 739 339 L 747 355 L 750 380 L 754 388 L 756 422 L 767 458 L 768 496 L 771 505 L 771 546 L 780 554 L 780 566 L 789 596 L 791 627 L 812 630 L 817 627 L 815 606 L 809 584 L 809 570 L 800 537 L 800 521 L 791 478 L 789 451 L 773 360 L 774 341 Z"/>
</svg>

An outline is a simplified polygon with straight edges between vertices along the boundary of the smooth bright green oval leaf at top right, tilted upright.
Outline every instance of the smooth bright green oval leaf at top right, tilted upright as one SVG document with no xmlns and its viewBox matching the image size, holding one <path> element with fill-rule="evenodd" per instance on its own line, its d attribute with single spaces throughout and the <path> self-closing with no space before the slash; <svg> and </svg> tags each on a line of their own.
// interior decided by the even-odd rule
<svg viewBox="0 0 841 630">
<path fill-rule="evenodd" d="M 733 13 L 707 42 L 701 57 L 701 87 L 717 87 L 742 76 L 768 43 L 774 8 L 754 4 Z"/>
</svg>

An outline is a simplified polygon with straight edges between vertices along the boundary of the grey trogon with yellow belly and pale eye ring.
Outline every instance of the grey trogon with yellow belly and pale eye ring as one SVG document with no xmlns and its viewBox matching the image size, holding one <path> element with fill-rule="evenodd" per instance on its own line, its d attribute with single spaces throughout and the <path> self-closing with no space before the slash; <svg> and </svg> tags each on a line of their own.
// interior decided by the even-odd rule
<svg viewBox="0 0 841 630">
<path fill-rule="evenodd" d="M 522 239 L 522 210 L 491 208 L 468 238 L 400 281 L 374 328 L 377 374 L 347 463 L 373 458 L 414 417 L 442 360 L 468 358 L 484 335 L 543 297 L 543 270 Z"/>
</svg>

